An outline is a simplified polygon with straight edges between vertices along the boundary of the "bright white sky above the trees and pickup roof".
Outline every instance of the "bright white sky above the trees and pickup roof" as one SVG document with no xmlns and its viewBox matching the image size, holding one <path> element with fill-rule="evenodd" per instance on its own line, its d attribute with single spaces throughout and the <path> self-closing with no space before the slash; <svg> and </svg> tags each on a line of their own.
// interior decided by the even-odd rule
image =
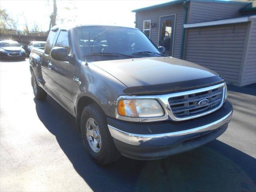
<svg viewBox="0 0 256 192">
<path fill-rule="evenodd" d="M 138 8 L 170 2 L 171 0 L 57 0 L 57 24 L 60 20 L 72 24 L 106 24 L 134 27 Z M 14 6 L 15 5 L 15 6 Z M 0 0 L 0 8 L 6 9 L 18 19 L 18 29 L 24 29 L 25 18 L 31 28 L 34 22 L 42 31 L 49 28 L 52 0 Z M 69 18 L 72 18 L 70 21 Z"/>
</svg>

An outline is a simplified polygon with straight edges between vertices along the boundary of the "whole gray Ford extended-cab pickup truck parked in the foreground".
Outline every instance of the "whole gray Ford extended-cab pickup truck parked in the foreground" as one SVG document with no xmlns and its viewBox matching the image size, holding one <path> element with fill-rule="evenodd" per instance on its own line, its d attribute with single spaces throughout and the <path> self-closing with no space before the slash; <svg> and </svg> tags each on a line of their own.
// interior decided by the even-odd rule
<svg viewBox="0 0 256 192">
<path fill-rule="evenodd" d="M 76 118 L 98 164 L 120 155 L 154 160 L 202 146 L 228 127 L 224 79 L 164 55 L 136 28 L 54 26 L 30 54 L 34 96 L 49 94 Z"/>
</svg>

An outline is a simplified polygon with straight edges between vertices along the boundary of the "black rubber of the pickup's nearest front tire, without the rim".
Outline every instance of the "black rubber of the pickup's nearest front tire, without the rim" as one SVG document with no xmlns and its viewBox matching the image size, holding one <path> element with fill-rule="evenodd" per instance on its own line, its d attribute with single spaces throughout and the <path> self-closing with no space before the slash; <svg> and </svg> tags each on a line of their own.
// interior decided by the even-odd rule
<svg viewBox="0 0 256 192">
<path fill-rule="evenodd" d="M 100 132 L 101 148 L 99 152 L 94 152 L 87 140 L 86 126 L 89 119 L 95 120 Z M 121 154 L 116 149 L 112 136 L 108 130 L 106 116 L 97 104 L 90 104 L 84 108 L 80 122 L 84 145 L 92 160 L 100 165 L 107 165 L 118 160 Z"/>
</svg>

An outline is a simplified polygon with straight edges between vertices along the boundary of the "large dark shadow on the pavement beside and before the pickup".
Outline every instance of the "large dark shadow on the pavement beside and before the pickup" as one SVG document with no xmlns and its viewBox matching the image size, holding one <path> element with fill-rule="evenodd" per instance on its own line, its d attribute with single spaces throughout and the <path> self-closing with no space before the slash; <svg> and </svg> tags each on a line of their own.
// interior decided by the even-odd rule
<svg viewBox="0 0 256 192">
<path fill-rule="evenodd" d="M 50 96 L 34 102 L 42 123 L 94 191 L 256 191 L 255 158 L 218 140 L 162 160 L 121 157 L 98 166 L 85 152 L 74 117 Z"/>
</svg>

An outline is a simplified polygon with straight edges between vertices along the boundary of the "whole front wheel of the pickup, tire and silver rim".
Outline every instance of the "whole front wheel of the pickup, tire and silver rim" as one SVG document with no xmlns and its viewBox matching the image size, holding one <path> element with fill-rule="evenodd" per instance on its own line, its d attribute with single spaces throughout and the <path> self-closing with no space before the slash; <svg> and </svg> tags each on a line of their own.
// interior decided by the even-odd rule
<svg viewBox="0 0 256 192">
<path fill-rule="evenodd" d="M 92 160 L 100 165 L 118 160 L 120 152 L 108 130 L 106 116 L 97 104 L 84 108 L 80 122 L 83 142 Z"/>
</svg>

